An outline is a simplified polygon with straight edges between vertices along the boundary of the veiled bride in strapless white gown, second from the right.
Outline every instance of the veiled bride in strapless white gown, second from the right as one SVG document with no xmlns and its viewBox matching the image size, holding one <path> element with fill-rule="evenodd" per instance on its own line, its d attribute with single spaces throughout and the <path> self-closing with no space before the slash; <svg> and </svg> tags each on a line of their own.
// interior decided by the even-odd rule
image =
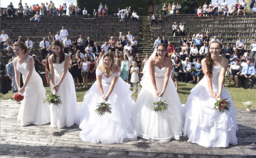
<svg viewBox="0 0 256 158">
<path fill-rule="evenodd" d="M 146 140 L 168 142 L 179 140 L 181 128 L 181 101 L 174 82 L 170 79 L 172 62 L 167 57 L 167 46 L 159 43 L 145 65 L 142 77 L 142 91 L 139 93 L 132 115 L 135 134 Z M 153 103 L 166 101 L 164 112 L 153 111 Z"/>
</svg>

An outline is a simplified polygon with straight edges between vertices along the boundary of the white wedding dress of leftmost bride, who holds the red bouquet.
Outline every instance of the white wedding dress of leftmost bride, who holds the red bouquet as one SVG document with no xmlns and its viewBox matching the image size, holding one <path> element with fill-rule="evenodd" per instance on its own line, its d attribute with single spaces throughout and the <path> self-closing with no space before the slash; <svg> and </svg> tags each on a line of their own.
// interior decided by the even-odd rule
<svg viewBox="0 0 256 158">
<path fill-rule="evenodd" d="M 28 74 L 29 64 L 28 60 L 33 60 L 33 57 L 28 56 L 22 64 L 14 59 L 16 62 L 16 69 L 21 72 L 23 81 L 25 81 Z M 21 125 L 44 125 L 50 123 L 50 110 L 48 103 L 43 103 L 46 98 L 46 89 L 43 87 L 43 81 L 39 74 L 33 69 L 31 78 L 23 93 L 23 101 L 21 101 L 20 110 L 18 111 L 18 120 Z"/>
</svg>

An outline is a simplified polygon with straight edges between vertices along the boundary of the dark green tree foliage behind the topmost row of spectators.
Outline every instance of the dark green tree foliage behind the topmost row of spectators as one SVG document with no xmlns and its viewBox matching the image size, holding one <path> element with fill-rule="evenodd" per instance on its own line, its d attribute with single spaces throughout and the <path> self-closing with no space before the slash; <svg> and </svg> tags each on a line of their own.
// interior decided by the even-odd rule
<svg viewBox="0 0 256 158">
<path fill-rule="evenodd" d="M 90 14 L 92 14 L 93 9 L 99 9 L 99 5 L 102 3 L 104 6 L 107 4 L 110 15 L 117 13 L 118 8 L 125 9 L 131 6 L 131 9 L 135 10 L 139 16 L 148 15 L 149 4 L 161 4 L 161 6 L 163 6 L 165 3 L 168 7 L 168 4 L 178 3 L 182 6 L 180 13 L 194 13 L 195 9 L 197 9 L 198 6 L 202 6 L 204 2 L 209 3 L 209 0 L 77 0 L 78 6 L 80 6 L 81 9 L 85 7 Z M 161 11 L 159 13 L 161 13 Z"/>
</svg>

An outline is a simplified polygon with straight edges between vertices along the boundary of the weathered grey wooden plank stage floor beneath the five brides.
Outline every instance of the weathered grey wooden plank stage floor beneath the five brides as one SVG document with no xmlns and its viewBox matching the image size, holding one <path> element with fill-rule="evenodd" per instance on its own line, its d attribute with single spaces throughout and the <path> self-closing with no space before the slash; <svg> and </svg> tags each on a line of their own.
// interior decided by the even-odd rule
<svg viewBox="0 0 256 158">
<path fill-rule="evenodd" d="M 102 145 L 82 142 L 77 125 L 55 129 L 50 125 L 28 125 L 17 122 L 19 104 L 1 101 L 0 157 L 181 157 L 238 158 L 256 157 L 256 111 L 237 110 L 238 145 L 206 148 L 187 142 L 186 137 L 171 142 L 137 141 Z"/>
</svg>

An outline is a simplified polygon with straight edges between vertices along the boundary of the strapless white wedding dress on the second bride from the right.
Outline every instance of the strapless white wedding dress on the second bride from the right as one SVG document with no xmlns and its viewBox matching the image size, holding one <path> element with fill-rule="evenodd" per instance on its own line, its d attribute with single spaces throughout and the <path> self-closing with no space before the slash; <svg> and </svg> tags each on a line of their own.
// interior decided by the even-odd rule
<svg viewBox="0 0 256 158">
<path fill-rule="evenodd" d="M 162 69 L 154 67 L 156 87 L 159 91 L 164 86 L 166 69 L 166 67 Z M 178 98 L 174 82 L 171 78 L 169 79 L 166 91 L 161 97 L 161 100 L 166 101 L 169 108 L 164 112 L 157 113 L 153 111 L 152 106 L 154 102 L 158 101 L 158 97 L 151 82 L 151 77 L 147 73 L 148 70 L 144 71 L 141 81 L 142 90 L 139 93 L 134 113 L 132 114 L 135 134 L 153 142 L 169 142 L 171 139 L 179 140 L 182 135 L 183 120 L 181 116 L 181 101 Z"/>
</svg>

